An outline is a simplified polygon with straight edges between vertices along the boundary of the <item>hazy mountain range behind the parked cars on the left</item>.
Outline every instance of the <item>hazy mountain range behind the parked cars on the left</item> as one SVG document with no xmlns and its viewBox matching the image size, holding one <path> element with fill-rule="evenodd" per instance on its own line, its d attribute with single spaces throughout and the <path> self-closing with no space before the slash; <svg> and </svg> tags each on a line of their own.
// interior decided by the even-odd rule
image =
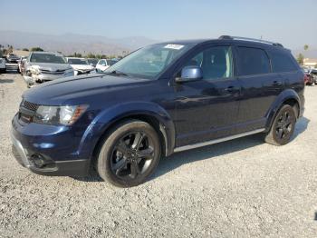
<svg viewBox="0 0 317 238">
<path fill-rule="evenodd" d="M 0 44 L 13 45 L 16 48 L 41 47 L 45 51 L 59 51 L 64 55 L 81 53 L 83 55 L 124 55 L 155 40 L 142 37 L 110 38 L 101 35 L 45 35 L 38 33 L 0 31 Z"/>
</svg>

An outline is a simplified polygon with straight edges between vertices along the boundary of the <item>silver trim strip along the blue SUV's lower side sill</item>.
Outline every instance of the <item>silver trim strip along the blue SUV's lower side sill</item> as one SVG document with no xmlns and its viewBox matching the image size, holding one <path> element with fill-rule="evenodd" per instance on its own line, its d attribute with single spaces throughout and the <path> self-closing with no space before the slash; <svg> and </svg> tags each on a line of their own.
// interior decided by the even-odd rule
<svg viewBox="0 0 317 238">
<path fill-rule="evenodd" d="M 180 147 L 175 148 L 174 153 L 195 149 L 195 148 L 207 146 L 210 144 L 217 144 L 217 143 L 221 143 L 221 142 L 226 142 L 226 141 L 234 140 L 236 138 L 244 137 L 246 135 L 262 133 L 264 131 L 265 131 L 265 128 L 262 128 L 262 129 L 257 129 L 255 131 L 251 131 L 251 132 L 247 132 L 247 133 L 243 133 L 243 134 L 234 134 L 234 135 L 230 135 L 230 136 L 227 136 L 224 138 L 219 138 L 219 139 L 215 139 L 215 140 L 211 140 L 211 141 L 207 141 L 207 142 L 202 142 L 202 143 L 197 143 L 197 144 L 188 144 L 188 145 L 184 145 L 184 146 L 180 146 Z"/>
</svg>

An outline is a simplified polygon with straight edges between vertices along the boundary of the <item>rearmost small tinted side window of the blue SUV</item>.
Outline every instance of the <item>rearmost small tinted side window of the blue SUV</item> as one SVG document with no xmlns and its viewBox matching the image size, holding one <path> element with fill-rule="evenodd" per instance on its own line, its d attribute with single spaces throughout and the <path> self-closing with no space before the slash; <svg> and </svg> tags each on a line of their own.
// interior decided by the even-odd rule
<svg viewBox="0 0 317 238">
<path fill-rule="evenodd" d="M 297 70 L 297 66 L 293 63 L 291 55 L 274 52 L 271 57 L 274 72 L 279 73 Z"/>
</svg>

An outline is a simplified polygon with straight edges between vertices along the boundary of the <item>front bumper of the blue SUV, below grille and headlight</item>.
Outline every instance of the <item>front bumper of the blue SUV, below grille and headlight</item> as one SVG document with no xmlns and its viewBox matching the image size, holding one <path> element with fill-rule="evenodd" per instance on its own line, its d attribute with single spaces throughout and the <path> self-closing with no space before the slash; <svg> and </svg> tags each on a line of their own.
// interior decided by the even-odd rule
<svg viewBox="0 0 317 238">
<path fill-rule="evenodd" d="M 16 117 L 15 115 L 12 122 L 11 140 L 13 154 L 19 164 L 34 174 L 52 176 L 84 176 L 89 174 L 91 160 L 87 157 L 83 158 L 88 155 L 84 152 L 74 151 L 73 144 L 62 146 L 65 144 L 65 139 L 70 140 L 67 131 L 62 131 L 60 128 L 61 133 L 58 134 L 58 130 L 56 131 L 51 127 L 41 136 L 32 135 L 24 130 L 25 126 L 19 124 Z M 43 125 L 39 124 L 39 127 L 42 127 L 39 128 L 39 131 L 43 131 Z M 58 142 L 60 140 L 62 143 Z M 38 164 L 34 163 L 34 155 L 43 158 L 46 164 L 39 167 Z"/>
</svg>

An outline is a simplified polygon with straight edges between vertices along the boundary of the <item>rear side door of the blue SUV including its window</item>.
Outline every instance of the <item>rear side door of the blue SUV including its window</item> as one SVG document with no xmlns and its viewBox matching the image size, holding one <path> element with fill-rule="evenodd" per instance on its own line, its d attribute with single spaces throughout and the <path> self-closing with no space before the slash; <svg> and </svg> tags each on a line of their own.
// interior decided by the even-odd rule
<svg viewBox="0 0 317 238">
<path fill-rule="evenodd" d="M 283 91 L 283 78 L 272 72 L 270 58 L 264 48 L 236 45 L 235 49 L 241 84 L 236 133 L 244 133 L 264 128 L 271 105 Z"/>
</svg>

